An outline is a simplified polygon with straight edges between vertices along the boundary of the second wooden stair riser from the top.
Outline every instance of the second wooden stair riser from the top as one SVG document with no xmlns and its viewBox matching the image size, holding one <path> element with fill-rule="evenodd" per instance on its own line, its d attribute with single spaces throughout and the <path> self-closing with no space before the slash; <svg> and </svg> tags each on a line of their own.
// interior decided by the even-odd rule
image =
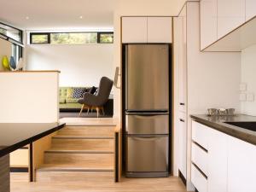
<svg viewBox="0 0 256 192">
<path fill-rule="evenodd" d="M 99 150 L 113 151 L 113 139 L 70 139 L 70 138 L 52 138 L 50 149 L 53 150 Z"/>
</svg>

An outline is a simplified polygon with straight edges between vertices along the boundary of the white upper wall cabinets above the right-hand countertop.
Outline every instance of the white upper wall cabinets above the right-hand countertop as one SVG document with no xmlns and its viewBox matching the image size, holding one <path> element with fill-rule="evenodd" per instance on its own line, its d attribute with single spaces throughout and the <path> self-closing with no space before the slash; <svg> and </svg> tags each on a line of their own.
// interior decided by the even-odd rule
<svg viewBox="0 0 256 192">
<path fill-rule="evenodd" d="M 201 0 L 201 50 L 241 51 L 256 44 L 256 0 Z"/>
</svg>

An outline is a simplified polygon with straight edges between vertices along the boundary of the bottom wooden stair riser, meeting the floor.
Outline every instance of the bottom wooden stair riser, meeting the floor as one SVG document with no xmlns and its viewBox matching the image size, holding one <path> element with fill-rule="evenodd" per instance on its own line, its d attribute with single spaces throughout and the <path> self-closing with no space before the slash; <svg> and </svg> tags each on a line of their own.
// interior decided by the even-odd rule
<svg viewBox="0 0 256 192">
<path fill-rule="evenodd" d="M 40 183 L 113 183 L 113 172 L 36 172 Z"/>
</svg>

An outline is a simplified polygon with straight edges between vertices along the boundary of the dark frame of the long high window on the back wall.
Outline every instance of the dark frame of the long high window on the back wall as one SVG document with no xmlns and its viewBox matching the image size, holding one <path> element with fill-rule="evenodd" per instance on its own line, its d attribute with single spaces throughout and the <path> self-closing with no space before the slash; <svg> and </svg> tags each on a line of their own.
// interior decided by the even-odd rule
<svg viewBox="0 0 256 192">
<path fill-rule="evenodd" d="M 55 33 L 96 33 L 97 34 L 96 43 L 91 43 L 91 44 L 113 44 L 113 43 L 101 43 L 100 42 L 101 34 L 113 34 L 113 32 L 30 32 L 30 34 L 29 34 L 30 44 L 51 44 L 50 35 L 55 34 Z M 47 41 L 47 43 L 32 43 L 33 35 L 47 35 L 48 41 Z"/>
</svg>

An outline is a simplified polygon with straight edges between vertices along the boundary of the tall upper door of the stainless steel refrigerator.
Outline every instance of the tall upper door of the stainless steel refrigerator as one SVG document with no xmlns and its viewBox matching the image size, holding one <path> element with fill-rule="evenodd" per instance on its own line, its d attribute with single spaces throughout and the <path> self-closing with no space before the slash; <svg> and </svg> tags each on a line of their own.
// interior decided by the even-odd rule
<svg viewBox="0 0 256 192">
<path fill-rule="evenodd" d="M 125 51 L 126 111 L 168 111 L 169 46 L 129 44 Z"/>
</svg>

